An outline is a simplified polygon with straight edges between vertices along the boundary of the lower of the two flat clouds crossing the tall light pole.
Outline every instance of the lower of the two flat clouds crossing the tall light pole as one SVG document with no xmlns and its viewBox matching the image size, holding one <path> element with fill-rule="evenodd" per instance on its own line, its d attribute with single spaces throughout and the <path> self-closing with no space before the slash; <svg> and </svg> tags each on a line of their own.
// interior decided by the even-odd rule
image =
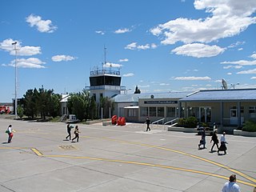
<svg viewBox="0 0 256 192">
<path fill-rule="evenodd" d="M 38 58 L 18 58 L 17 59 L 17 67 L 20 68 L 46 68 L 45 66 L 42 66 L 46 62 L 42 62 Z M 15 66 L 15 60 L 10 62 L 8 65 L 2 65 L 2 66 Z"/>
</svg>

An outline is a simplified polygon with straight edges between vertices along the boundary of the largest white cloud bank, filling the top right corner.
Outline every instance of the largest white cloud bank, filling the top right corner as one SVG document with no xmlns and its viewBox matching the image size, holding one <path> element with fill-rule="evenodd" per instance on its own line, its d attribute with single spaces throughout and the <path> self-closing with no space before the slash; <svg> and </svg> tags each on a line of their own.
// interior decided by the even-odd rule
<svg viewBox="0 0 256 192">
<path fill-rule="evenodd" d="M 233 37 L 256 23 L 251 15 L 256 10 L 255 0 L 209 1 L 195 0 L 196 10 L 205 10 L 207 18 L 176 18 L 160 24 L 150 32 L 162 35 L 162 44 L 175 42 L 213 42 L 219 38 Z M 225 25 L 223 25 L 225 23 Z"/>
</svg>

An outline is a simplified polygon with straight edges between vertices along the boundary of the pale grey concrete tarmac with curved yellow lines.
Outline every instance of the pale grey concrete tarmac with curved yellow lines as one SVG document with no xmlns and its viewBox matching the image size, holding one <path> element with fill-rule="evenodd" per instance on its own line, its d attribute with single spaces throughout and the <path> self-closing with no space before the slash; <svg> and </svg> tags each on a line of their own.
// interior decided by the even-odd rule
<svg viewBox="0 0 256 192">
<path fill-rule="evenodd" d="M 230 174 L 241 191 L 256 186 L 256 138 L 227 134 L 228 154 L 218 155 L 209 135 L 198 150 L 200 136 L 164 126 L 77 125 L 79 142 L 71 142 L 64 122 L 0 118 L 0 191 L 216 192 Z"/>
</svg>

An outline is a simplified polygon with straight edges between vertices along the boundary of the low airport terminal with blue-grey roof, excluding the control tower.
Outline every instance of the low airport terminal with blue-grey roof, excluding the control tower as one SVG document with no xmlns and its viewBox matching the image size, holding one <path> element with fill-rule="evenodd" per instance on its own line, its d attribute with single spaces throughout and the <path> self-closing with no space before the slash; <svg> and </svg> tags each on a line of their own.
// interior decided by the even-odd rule
<svg viewBox="0 0 256 192">
<path fill-rule="evenodd" d="M 199 90 L 194 93 L 119 94 L 114 97 L 114 113 L 127 122 L 145 122 L 164 118 L 194 116 L 198 122 L 216 122 L 222 126 L 241 126 L 256 122 L 256 89 Z"/>
</svg>

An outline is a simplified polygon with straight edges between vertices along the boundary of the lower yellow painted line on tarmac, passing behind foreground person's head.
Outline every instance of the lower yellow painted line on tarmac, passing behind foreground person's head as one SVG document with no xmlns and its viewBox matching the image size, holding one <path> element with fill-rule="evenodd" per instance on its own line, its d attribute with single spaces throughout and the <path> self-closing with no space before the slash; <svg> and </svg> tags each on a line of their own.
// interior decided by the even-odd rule
<svg viewBox="0 0 256 192">
<path fill-rule="evenodd" d="M 164 166 L 164 165 L 152 164 L 152 163 L 147 163 L 147 162 L 130 162 L 130 161 L 117 160 L 117 159 L 78 157 L 78 156 L 70 156 L 70 155 L 45 155 L 45 154 L 43 154 L 42 156 L 47 157 L 47 158 L 76 158 L 76 159 L 89 159 L 89 160 L 105 161 L 105 162 L 121 162 L 121 163 L 126 163 L 126 164 L 134 164 L 134 165 L 138 165 L 138 166 L 151 166 L 151 167 L 159 167 L 159 168 L 170 169 L 170 170 L 182 170 L 182 171 L 186 171 L 186 172 L 190 172 L 190 173 L 194 173 L 194 174 L 204 174 L 204 175 L 208 175 L 208 176 L 215 177 L 215 178 L 223 178 L 226 180 L 229 179 L 226 176 L 222 176 L 219 174 L 211 174 L 211 173 L 207 173 L 207 172 L 204 172 L 201 170 L 190 170 L 190 169 L 185 169 L 185 168 L 180 168 L 180 167 L 175 167 L 175 166 Z M 242 183 L 246 186 L 253 186 L 253 187 L 256 186 L 254 183 L 245 182 L 242 180 L 237 180 L 237 182 Z"/>
</svg>

